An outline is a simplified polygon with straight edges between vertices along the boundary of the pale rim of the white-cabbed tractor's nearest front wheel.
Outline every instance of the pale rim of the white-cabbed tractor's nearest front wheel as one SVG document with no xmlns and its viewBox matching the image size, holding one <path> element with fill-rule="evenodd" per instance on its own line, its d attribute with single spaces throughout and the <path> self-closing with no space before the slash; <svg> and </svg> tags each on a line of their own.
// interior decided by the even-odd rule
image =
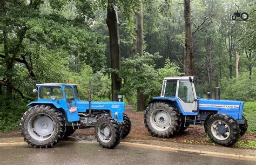
<svg viewBox="0 0 256 165">
<path fill-rule="evenodd" d="M 226 140 L 230 136 L 230 127 L 222 120 L 214 121 L 211 130 L 213 136 L 218 140 Z"/>
</svg>

